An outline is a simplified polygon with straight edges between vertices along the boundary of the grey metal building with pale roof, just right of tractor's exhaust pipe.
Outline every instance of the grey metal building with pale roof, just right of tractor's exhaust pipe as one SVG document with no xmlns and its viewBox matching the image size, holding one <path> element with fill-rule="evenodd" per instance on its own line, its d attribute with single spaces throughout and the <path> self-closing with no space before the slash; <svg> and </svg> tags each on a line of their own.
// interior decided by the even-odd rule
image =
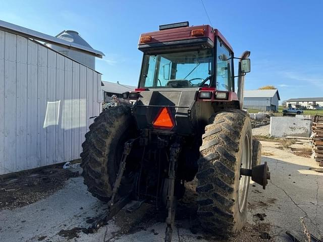
<svg viewBox="0 0 323 242">
<path fill-rule="evenodd" d="M 281 100 L 277 89 L 245 90 L 243 108 L 262 111 L 277 111 Z"/>
</svg>

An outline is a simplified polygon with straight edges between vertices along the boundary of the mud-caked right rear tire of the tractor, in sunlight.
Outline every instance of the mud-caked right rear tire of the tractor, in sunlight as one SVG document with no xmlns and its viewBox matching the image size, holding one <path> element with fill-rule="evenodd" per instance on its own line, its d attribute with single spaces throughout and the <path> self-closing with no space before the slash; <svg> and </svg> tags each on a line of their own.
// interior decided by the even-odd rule
<svg viewBox="0 0 323 242">
<path fill-rule="evenodd" d="M 237 109 L 214 114 L 200 152 L 196 192 L 201 225 L 211 233 L 234 235 L 247 219 L 250 177 L 240 177 L 240 168 L 252 164 L 249 115 Z"/>
</svg>

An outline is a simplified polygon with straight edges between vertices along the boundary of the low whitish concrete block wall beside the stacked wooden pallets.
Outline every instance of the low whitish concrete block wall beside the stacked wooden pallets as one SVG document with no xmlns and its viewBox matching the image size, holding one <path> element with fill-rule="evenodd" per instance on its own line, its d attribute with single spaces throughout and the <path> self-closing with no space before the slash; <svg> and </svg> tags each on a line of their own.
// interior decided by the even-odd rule
<svg viewBox="0 0 323 242">
<path fill-rule="evenodd" d="M 304 116 L 271 117 L 270 135 L 272 137 L 310 137 L 312 120 Z"/>
</svg>

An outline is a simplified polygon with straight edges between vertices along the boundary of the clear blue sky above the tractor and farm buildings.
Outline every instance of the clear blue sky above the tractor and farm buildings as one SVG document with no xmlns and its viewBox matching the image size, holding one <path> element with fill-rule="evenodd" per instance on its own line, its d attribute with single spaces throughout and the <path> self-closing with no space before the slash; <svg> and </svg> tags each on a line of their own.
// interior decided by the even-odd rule
<svg viewBox="0 0 323 242">
<path fill-rule="evenodd" d="M 282 100 L 323 96 L 323 1 L 203 0 L 236 56 L 251 51 L 246 89 L 278 87 Z M 137 85 L 140 33 L 158 25 L 209 24 L 200 0 L 2 1 L 0 19 L 50 35 L 76 30 L 95 49 L 102 80 Z"/>
</svg>

